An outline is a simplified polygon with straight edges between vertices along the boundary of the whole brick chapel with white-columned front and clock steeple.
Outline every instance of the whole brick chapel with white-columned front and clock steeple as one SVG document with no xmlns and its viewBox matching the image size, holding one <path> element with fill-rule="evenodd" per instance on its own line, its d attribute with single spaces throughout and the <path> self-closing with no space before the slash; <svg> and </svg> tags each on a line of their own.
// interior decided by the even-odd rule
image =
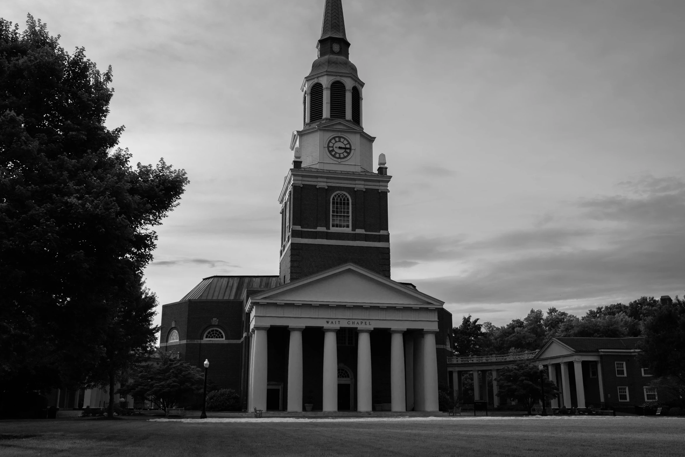
<svg viewBox="0 0 685 457">
<path fill-rule="evenodd" d="M 392 177 L 364 131 L 364 82 L 340 0 L 326 0 L 303 125 L 279 195 L 279 275 L 212 276 L 162 308 L 160 349 L 252 410 L 437 411 L 452 317 L 390 279 Z"/>
</svg>

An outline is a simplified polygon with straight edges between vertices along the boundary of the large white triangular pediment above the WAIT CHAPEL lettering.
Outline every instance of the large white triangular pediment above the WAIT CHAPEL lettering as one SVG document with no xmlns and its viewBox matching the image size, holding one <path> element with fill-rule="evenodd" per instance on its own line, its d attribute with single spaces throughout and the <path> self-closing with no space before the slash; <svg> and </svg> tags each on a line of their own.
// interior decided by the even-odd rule
<svg viewBox="0 0 685 457">
<path fill-rule="evenodd" d="M 443 302 L 355 264 L 306 277 L 253 295 L 251 301 L 275 300 L 313 303 L 433 305 Z"/>
</svg>

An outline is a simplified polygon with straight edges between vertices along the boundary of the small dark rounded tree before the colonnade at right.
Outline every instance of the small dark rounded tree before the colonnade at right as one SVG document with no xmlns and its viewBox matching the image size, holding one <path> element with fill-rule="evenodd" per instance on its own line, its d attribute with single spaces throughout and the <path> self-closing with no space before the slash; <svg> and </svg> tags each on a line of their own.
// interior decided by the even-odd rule
<svg viewBox="0 0 685 457">
<path fill-rule="evenodd" d="M 545 388 L 545 400 L 549 401 L 559 394 L 556 384 L 549 380 L 543 370 Z M 499 370 L 497 378 L 497 396 L 506 399 L 516 399 L 523 404 L 531 414 L 531 408 L 540 401 L 543 393 L 540 390 L 540 370 L 538 367 L 527 362 L 521 362 L 511 367 L 504 367 Z"/>
</svg>

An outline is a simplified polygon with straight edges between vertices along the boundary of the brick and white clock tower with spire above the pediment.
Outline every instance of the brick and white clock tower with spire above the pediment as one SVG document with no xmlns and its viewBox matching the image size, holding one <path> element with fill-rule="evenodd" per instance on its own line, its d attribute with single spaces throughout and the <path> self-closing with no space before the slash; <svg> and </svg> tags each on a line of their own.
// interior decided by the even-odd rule
<svg viewBox="0 0 685 457">
<path fill-rule="evenodd" d="M 384 154 L 373 171 L 362 90 L 340 0 L 326 0 L 318 58 L 304 78 L 303 126 L 292 132 L 292 168 L 279 196 L 280 281 L 351 262 L 390 277 L 388 183 Z"/>
</svg>

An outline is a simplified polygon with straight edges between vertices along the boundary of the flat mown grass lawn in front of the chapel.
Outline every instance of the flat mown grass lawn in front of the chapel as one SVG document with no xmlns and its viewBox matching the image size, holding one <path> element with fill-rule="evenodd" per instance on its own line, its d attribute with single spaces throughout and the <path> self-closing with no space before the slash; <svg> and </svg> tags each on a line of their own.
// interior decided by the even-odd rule
<svg viewBox="0 0 685 457">
<path fill-rule="evenodd" d="M 205 423 L 58 419 L 0 421 L 0 433 L 3 457 L 682 456 L 685 449 L 685 419 L 665 417 Z"/>
</svg>

